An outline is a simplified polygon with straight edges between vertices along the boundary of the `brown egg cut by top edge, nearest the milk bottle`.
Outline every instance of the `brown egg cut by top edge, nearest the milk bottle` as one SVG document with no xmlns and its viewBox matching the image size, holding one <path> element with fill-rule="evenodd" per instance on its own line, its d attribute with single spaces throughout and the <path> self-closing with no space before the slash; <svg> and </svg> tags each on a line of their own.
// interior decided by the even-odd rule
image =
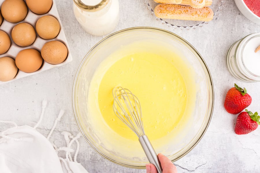
<svg viewBox="0 0 260 173">
<path fill-rule="evenodd" d="M 36 14 L 47 13 L 52 6 L 52 0 L 26 0 L 29 9 Z"/>
</svg>

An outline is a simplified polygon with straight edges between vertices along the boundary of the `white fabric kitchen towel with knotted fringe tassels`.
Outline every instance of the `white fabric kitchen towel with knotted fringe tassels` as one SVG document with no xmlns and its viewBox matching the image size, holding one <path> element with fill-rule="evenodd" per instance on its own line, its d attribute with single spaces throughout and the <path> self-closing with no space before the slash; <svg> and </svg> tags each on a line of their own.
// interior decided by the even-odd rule
<svg viewBox="0 0 260 173">
<path fill-rule="evenodd" d="M 12 121 L 0 121 L 10 123 L 14 127 L 0 132 L 0 173 L 88 173 L 80 163 L 77 163 L 79 151 L 80 133 L 76 136 L 69 132 L 62 132 L 66 146 L 57 147 L 49 141 L 57 122 L 64 114 L 61 110 L 53 128 L 47 137 L 39 133 L 36 128 L 43 119 L 47 101 L 42 102 L 42 113 L 38 123 L 34 127 L 27 125 L 18 126 Z M 77 148 L 71 146 L 76 142 Z M 65 151 L 66 158 L 59 157 L 58 151 Z M 75 151 L 72 158 L 71 152 Z"/>
</svg>

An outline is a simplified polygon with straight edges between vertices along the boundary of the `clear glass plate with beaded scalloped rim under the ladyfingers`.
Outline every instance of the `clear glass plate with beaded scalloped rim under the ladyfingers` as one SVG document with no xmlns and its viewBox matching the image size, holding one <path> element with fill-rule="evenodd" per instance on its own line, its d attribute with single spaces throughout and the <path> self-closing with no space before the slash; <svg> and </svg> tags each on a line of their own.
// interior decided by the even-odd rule
<svg viewBox="0 0 260 173">
<path fill-rule="evenodd" d="M 146 0 L 145 4 L 148 5 L 148 10 L 151 10 L 151 14 L 155 16 L 154 14 L 154 8 L 159 3 L 154 2 L 153 0 Z M 214 12 L 213 20 L 217 20 L 219 18 L 219 13 L 222 10 L 222 5 L 224 4 L 224 0 L 213 0 L 212 5 L 209 7 Z M 203 22 L 203 21 L 191 21 L 191 20 L 174 20 L 174 19 L 162 19 L 157 18 L 155 16 L 156 20 L 160 20 L 162 24 L 166 24 L 168 27 L 173 27 L 173 29 L 180 28 L 183 29 L 196 29 L 197 27 L 202 27 L 204 24 L 208 24 L 209 22 Z M 212 22 L 211 20 L 210 22 Z"/>
</svg>

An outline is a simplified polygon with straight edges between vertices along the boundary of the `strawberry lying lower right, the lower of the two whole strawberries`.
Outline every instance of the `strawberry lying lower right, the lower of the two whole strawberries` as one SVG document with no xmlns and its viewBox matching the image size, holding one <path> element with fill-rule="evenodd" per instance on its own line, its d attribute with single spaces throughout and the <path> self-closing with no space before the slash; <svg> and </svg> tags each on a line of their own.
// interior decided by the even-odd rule
<svg viewBox="0 0 260 173">
<path fill-rule="evenodd" d="M 254 114 L 246 109 L 246 112 L 241 112 L 237 116 L 237 122 L 235 126 L 235 133 L 238 135 L 244 135 L 257 129 L 260 125 L 260 116 L 257 112 Z"/>
</svg>

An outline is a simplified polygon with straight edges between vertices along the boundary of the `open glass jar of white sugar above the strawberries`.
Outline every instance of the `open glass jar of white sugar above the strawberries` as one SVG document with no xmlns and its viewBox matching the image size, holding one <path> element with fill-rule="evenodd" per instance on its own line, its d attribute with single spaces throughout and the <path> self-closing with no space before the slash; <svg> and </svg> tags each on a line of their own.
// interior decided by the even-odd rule
<svg viewBox="0 0 260 173">
<path fill-rule="evenodd" d="M 229 49 L 226 63 L 229 72 L 243 82 L 260 81 L 260 33 L 250 34 Z"/>
</svg>

